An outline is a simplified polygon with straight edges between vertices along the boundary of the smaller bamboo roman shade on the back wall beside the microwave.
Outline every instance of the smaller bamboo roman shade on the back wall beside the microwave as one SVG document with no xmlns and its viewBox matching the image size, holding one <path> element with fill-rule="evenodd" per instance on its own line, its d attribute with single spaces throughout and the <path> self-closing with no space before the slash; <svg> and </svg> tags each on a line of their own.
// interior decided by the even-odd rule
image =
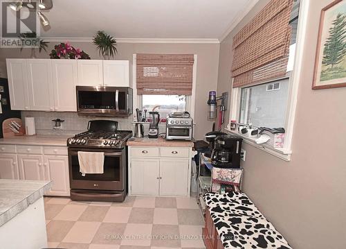
<svg viewBox="0 0 346 249">
<path fill-rule="evenodd" d="M 193 54 L 137 54 L 138 94 L 192 94 Z"/>
</svg>

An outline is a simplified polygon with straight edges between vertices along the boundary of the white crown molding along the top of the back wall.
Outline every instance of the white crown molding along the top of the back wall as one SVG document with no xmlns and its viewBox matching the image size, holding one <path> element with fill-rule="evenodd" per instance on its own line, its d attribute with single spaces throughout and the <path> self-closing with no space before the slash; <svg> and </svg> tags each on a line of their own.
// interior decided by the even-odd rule
<svg viewBox="0 0 346 249">
<path fill-rule="evenodd" d="M 46 42 L 93 42 L 93 37 L 41 37 Z M 219 44 L 218 39 L 116 38 L 117 43 L 204 43 Z"/>
</svg>

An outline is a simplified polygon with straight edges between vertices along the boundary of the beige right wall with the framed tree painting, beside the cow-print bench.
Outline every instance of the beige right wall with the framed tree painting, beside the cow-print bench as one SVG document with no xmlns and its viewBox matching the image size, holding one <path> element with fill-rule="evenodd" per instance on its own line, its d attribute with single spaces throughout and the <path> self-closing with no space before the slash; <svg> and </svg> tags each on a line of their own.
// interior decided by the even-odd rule
<svg viewBox="0 0 346 249">
<path fill-rule="evenodd" d="M 230 89 L 232 37 L 266 3 L 221 43 L 218 91 Z M 295 249 L 346 248 L 346 87 L 311 90 L 320 10 L 329 3 L 310 1 L 291 162 L 244 145 L 244 191 Z"/>
</svg>

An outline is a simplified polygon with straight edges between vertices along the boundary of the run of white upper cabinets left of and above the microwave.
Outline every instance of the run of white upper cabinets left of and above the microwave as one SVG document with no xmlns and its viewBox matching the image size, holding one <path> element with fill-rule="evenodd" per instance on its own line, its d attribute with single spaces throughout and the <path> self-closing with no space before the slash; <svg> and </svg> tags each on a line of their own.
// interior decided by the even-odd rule
<svg viewBox="0 0 346 249">
<path fill-rule="evenodd" d="M 76 85 L 129 87 L 128 60 L 6 59 L 12 110 L 76 112 Z"/>
</svg>

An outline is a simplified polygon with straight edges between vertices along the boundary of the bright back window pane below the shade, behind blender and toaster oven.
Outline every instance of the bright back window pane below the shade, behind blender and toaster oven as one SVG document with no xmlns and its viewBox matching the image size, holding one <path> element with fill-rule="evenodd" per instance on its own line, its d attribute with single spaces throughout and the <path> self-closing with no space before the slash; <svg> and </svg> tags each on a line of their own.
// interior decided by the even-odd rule
<svg viewBox="0 0 346 249">
<path fill-rule="evenodd" d="M 161 119 L 165 119 L 172 112 L 185 112 L 186 96 L 143 94 L 142 106 L 143 110 L 146 109 L 148 112 L 159 112 Z"/>
</svg>

